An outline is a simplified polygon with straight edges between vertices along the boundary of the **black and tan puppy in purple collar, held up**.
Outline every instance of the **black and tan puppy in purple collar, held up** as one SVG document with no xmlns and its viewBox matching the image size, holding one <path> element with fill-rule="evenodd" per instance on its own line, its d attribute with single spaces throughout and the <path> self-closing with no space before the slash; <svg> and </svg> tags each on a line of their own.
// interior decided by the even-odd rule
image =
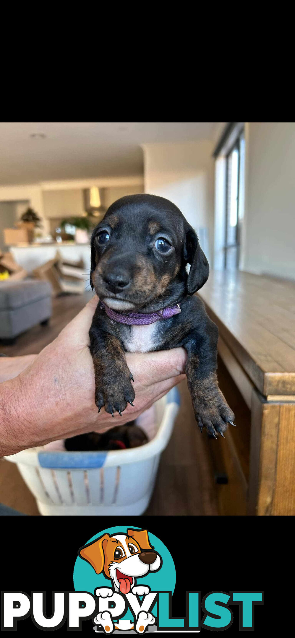
<svg viewBox="0 0 295 638">
<path fill-rule="evenodd" d="M 218 329 L 199 297 L 193 296 L 208 275 L 197 235 L 172 202 L 155 195 L 130 195 L 109 207 L 91 238 L 90 281 L 103 302 L 89 330 L 98 410 L 104 406 L 112 415 L 121 414 L 128 402 L 133 403 L 133 376 L 125 352 L 183 346 L 200 430 L 206 427 L 213 436 L 223 436 L 227 423 L 233 424 L 234 414 L 216 378 Z M 130 313 L 139 316 L 133 319 Z M 142 325 L 144 316 L 153 323 Z"/>
</svg>

